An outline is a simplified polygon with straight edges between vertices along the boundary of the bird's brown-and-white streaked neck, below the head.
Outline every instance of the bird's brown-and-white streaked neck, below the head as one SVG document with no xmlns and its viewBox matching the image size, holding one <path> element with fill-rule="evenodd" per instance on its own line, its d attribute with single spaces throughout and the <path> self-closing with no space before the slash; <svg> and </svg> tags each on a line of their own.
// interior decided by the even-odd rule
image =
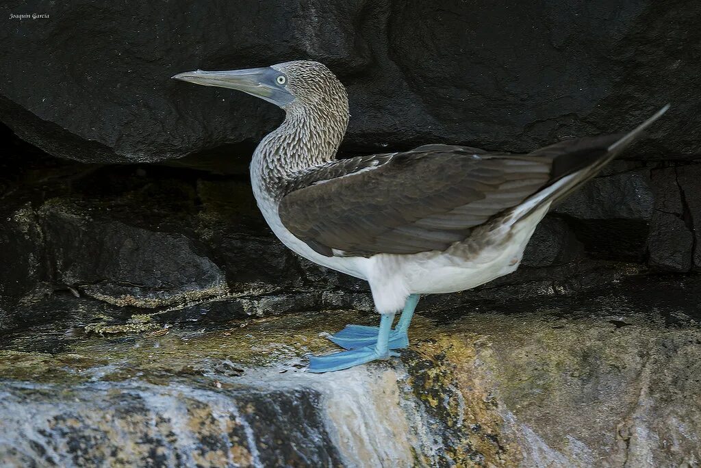
<svg viewBox="0 0 701 468">
<path fill-rule="evenodd" d="M 299 172 L 334 160 L 348 125 L 348 104 L 294 105 L 285 121 L 261 140 L 251 177 L 266 186 L 284 184 Z M 343 105 L 344 104 L 344 105 Z"/>
</svg>

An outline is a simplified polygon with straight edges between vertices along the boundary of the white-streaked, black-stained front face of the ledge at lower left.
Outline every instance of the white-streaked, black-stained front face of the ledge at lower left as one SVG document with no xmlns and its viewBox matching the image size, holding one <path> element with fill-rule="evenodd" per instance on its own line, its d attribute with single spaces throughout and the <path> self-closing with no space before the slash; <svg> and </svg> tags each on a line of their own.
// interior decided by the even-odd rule
<svg viewBox="0 0 701 468">
<path fill-rule="evenodd" d="M 104 392 L 89 386 L 64 389 L 59 399 L 52 387 L 27 390 L 8 386 L 1 392 L 4 429 L 22 425 L 23 417 L 34 421 L 24 441 L 0 442 L 0 457 L 9 466 L 26 466 L 25 460 L 118 467 L 340 462 L 325 427 L 315 420 L 318 394 L 311 389 L 264 393 L 124 385 Z M 297 420 L 305 424 L 295 425 Z"/>
</svg>

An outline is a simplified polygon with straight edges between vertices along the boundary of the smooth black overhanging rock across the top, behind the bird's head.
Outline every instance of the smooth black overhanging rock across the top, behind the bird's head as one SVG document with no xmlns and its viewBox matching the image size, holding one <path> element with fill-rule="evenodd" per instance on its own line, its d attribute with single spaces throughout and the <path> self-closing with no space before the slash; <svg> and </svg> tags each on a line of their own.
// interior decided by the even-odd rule
<svg viewBox="0 0 701 468">
<path fill-rule="evenodd" d="M 192 156 L 196 165 L 209 164 L 203 153 L 217 153 L 214 166 L 228 166 L 236 153 L 250 154 L 282 113 L 170 76 L 298 58 L 325 62 L 348 87 L 348 151 L 430 142 L 529 151 L 564 137 L 629 130 L 672 102 L 651 130 L 655 138 L 628 155 L 699 152 L 701 130 L 683 125 L 696 115 L 688 93 L 701 87 L 700 65 L 677 46 L 701 43 L 701 11 L 687 4 L 180 0 L 97 8 L 86 0 L 14 0 L 6 9 L 50 17 L 6 19 L 0 120 L 62 158 Z"/>
</svg>

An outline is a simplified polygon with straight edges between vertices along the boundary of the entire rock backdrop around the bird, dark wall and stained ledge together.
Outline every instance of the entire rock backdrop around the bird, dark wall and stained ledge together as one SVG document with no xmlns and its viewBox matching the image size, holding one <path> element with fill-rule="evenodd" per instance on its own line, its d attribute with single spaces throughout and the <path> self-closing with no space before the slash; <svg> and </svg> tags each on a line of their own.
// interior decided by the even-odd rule
<svg viewBox="0 0 701 468">
<path fill-rule="evenodd" d="M 5 7 L 50 14 L 0 29 L 0 120 L 18 135 L 65 159 L 209 172 L 61 162 L 0 129 L 4 465 L 701 460 L 698 278 L 618 263 L 701 268 L 697 6 Z M 245 178 L 217 175 L 245 173 L 280 111 L 168 79 L 294 58 L 348 85 L 346 153 L 528 151 L 673 109 L 636 161 L 543 221 L 524 268 L 423 298 L 401 359 L 313 376 L 305 355 L 336 349 L 322 332 L 376 323 L 358 312 L 373 308 L 367 284 L 290 254 Z"/>
</svg>

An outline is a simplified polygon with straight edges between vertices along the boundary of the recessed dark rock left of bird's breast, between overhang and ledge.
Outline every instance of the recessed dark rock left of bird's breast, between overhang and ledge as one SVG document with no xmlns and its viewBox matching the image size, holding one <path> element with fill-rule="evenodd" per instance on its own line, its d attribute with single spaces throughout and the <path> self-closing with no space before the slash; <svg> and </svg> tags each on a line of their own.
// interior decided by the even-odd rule
<svg viewBox="0 0 701 468">
<path fill-rule="evenodd" d="M 203 175 L 46 168 L 41 182 L 13 188 L 0 211 L 0 258 L 11 266 L 0 272 L 0 330 L 70 315 L 60 303 L 21 306 L 46 294 L 93 298 L 122 315 L 157 310 L 173 322 L 373 310 L 367 283 L 299 259 L 274 237 L 250 184 Z"/>
</svg>

